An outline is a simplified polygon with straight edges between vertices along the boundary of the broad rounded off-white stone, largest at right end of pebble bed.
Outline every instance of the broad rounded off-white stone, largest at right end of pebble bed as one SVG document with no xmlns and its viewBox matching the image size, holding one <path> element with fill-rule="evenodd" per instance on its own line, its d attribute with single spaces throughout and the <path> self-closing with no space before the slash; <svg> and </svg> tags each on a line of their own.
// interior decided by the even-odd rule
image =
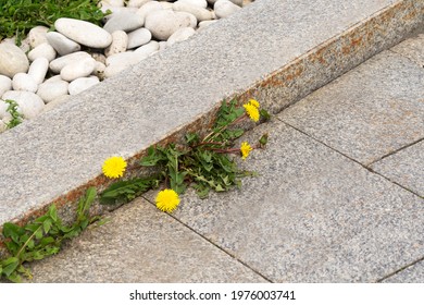
<svg viewBox="0 0 424 305">
<path fill-rule="evenodd" d="M 171 10 L 153 11 L 146 17 L 145 27 L 159 40 L 166 40 L 177 29 L 191 25 L 191 19 L 184 12 Z"/>
</svg>

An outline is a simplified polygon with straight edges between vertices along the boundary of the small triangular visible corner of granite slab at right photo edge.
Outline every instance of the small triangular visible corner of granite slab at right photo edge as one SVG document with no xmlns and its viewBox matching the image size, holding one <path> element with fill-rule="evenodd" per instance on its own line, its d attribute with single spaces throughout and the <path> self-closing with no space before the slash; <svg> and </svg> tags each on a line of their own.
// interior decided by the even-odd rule
<svg viewBox="0 0 424 305">
<path fill-rule="evenodd" d="M 373 163 L 371 168 L 424 197 L 424 141 Z"/>
</svg>

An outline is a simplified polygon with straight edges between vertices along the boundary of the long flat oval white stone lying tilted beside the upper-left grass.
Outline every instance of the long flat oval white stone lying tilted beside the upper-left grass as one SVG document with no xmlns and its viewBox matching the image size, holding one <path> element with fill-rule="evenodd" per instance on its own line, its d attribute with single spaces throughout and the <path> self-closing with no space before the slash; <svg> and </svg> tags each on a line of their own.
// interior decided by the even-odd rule
<svg viewBox="0 0 424 305">
<path fill-rule="evenodd" d="M 54 22 L 54 27 L 67 38 L 90 48 L 103 49 L 112 42 L 107 30 L 86 21 L 62 17 Z"/>
</svg>

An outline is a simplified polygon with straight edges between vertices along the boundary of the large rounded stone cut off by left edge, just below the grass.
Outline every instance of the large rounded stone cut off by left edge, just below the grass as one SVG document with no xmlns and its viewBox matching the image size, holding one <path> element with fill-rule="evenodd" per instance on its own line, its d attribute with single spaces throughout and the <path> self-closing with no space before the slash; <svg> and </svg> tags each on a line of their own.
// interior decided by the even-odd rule
<svg viewBox="0 0 424 305">
<path fill-rule="evenodd" d="M 29 62 L 26 54 L 15 45 L 0 44 L 0 74 L 12 78 L 16 73 L 27 72 Z"/>
</svg>

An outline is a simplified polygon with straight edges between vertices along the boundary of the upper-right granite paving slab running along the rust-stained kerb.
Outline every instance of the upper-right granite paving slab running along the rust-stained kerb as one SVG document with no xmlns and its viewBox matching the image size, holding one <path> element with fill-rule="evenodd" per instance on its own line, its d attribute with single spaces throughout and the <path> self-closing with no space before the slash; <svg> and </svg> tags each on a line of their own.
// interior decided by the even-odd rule
<svg viewBox="0 0 424 305">
<path fill-rule="evenodd" d="M 286 109 L 282 120 L 369 166 L 424 137 L 423 97 L 424 69 L 384 51 Z"/>
</svg>

